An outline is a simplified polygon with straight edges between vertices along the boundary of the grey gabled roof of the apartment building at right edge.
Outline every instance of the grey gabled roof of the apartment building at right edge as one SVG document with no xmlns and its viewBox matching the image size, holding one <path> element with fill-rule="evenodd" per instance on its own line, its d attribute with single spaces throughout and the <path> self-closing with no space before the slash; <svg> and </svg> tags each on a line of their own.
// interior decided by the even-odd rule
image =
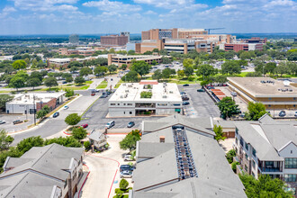
<svg viewBox="0 0 297 198">
<path fill-rule="evenodd" d="M 297 130 L 292 122 L 275 121 L 264 115 L 259 121 L 234 121 L 239 135 L 256 149 L 260 160 L 283 161 L 278 151 L 288 143 L 297 145 Z"/>
</svg>

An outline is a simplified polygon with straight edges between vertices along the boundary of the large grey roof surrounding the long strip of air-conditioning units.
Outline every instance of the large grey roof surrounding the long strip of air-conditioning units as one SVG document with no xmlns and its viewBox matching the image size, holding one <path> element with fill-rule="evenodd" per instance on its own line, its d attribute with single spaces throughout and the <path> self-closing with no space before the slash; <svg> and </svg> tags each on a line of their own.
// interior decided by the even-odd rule
<svg viewBox="0 0 297 198">
<path fill-rule="evenodd" d="M 184 126 L 187 147 L 191 150 L 190 156 L 192 155 L 197 176 L 185 179 L 179 177 L 174 131 L 172 127 L 167 127 L 164 120 L 172 120 L 175 124 L 171 126 Z M 186 120 L 181 115 L 160 119 L 156 122 L 158 125 L 164 123 L 164 127 L 145 133 L 139 140 L 137 157 L 146 156 L 144 149 L 150 149 L 148 153 L 153 154 L 150 157 L 157 153 L 158 155 L 137 164 L 133 173 L 132 197 L 247 197 L 243 184 L 230 169 L 217 141 L 207 129 L 201 130 L 199 120 L 191 120 L 195 121 L 191 124 L 195 128 L 189 128 L 190 121 Z M 146 122 L 144 121 L 144 125 Z M 159 142 L 157 137 L 161 136 L 165 138 L 165 143 Z M 163 146 L 157 147 L 157 144 Z"/>
</svg>

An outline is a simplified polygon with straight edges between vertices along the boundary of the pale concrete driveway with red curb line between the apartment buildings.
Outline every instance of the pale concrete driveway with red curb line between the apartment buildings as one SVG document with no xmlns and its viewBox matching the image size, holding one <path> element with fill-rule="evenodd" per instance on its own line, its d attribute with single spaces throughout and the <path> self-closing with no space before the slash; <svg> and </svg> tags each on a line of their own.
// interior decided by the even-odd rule
<svg viewBox="0 0 297 198">
<path fill-rule="evenodd" d="M 81 197 L 109 198 L 115 195 L 114 189 L 118 188 L 120 183 L 119 167 L 123 163 L 122 155 L 127 153 L 119 146 L 124 137 L 124 135 L 110 135 L 107 139 L 110 144 L 108 150 L 85 155 L 84 162 L 89 167 L 90 175 L 82 189 Z"/>
</svg>

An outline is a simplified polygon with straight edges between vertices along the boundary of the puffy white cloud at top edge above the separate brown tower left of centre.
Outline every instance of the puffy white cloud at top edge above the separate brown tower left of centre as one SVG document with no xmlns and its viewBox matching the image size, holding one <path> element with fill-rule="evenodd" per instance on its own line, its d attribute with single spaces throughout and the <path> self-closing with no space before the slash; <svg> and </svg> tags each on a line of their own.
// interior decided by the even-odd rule
<svg viewBox="0 0 297 198">
<path fill-rule="evenodd" d="M 97 7 L 101 11 L 111 12 L 112 14 L 138 12 L 141 7 L 136 4 L 123 4 L 118 1 L 90 1 L 83 4 L 86 7 Z"/>
</svg>

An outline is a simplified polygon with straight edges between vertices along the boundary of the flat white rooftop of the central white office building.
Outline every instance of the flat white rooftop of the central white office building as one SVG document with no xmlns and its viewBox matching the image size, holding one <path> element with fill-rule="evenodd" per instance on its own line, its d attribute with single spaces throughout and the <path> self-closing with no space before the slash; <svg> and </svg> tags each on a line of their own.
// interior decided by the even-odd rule
<svg viewBox="0 0 297 198">
<path fill-rule="evenodd" d="M 157 82 L 157 81 L 156 81 Z M 150 85 L 151 89 L 146 88 L 148 85 L 141 85 L 139 83 L 123 83 L 116 90 L 109 102 L 178 102 L 182 103 L 182 97 L 179 93 L 178 87 L 174 83 L 157 83 L 157 85 Z M 141 92 L 152 93 L 151 98 L 140 98 Z"/>
</svg>

